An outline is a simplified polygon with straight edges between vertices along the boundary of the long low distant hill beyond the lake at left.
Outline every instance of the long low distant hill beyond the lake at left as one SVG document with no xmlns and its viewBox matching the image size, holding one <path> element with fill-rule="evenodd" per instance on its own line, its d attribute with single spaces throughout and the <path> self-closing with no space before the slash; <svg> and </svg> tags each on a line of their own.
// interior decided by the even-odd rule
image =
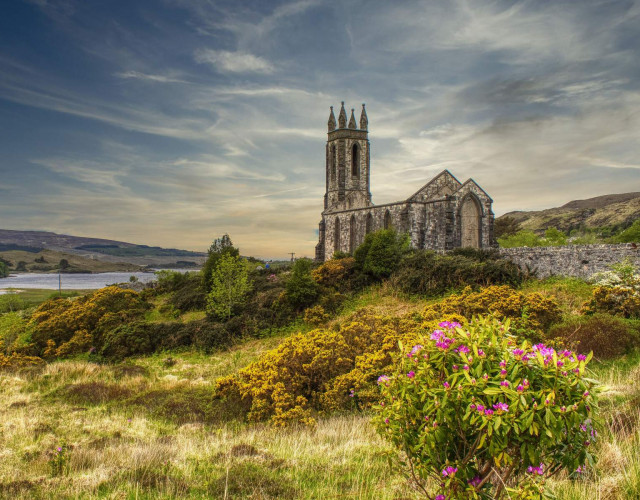
<svg viewBox="0 0 640 500">
<path fill-rule="evenodd" d="M 206 254 L 176 248 L 150 247 L 124 241 L 102 238 L 85 238 L 56 234 L 48 231 L 13 231 L 0 229 L 0 252 L 22 250 L 37 252 L 40 249 L 81 255 L 104 262 L 126 262 L 140 266 L 201 265 Z M 191 264 L 190 264 L 191 263 Z"/>
</svg>

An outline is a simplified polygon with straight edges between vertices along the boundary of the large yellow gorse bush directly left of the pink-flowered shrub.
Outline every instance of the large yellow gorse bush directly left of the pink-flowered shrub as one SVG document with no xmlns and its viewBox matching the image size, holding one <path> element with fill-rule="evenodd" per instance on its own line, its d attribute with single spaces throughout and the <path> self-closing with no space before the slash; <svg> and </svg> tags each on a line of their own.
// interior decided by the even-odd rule
<svg viewBox="0 0 640 500">
<path fill-rule="evenodd" d="M 378 374 L 389 369 L 398 341 L 415 339 L 419 326 L 412 318 L 361 310 L 337 331 L 316 329 L 285 339 L 237 374 L 218 379 L 218 394 L 242 400 L 250 421 L 312 426 L 315 413 L 377 401 Z"/>
</svg>

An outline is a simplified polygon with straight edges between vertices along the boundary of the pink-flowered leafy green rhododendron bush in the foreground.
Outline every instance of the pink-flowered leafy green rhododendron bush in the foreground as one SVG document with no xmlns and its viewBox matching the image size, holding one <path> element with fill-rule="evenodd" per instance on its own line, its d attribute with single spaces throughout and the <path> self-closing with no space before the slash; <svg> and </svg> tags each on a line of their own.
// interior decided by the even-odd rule
<svg viewBox="0 0 640 500">
<path fill-rule="evenodd" d="M 378 378 L 374 423 L 428 498 L 537 498 L 545 478 L 593 465 L 591 355 L 520 342 L 509 328 L 443 322 Z"/>
</svg>

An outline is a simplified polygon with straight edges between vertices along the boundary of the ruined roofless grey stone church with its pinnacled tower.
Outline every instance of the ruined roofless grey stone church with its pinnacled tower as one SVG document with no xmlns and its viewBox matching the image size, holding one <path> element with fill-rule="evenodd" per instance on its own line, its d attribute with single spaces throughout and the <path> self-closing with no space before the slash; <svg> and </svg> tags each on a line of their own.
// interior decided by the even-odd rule
<svg viewBox="0 0 640 500">
<path fill-rule="evenodd" d="M 367 233 L 383 228 L 408 233 L 414 248 L 494 245 L 493 200 L 473 179 L 461 183 L 448 170 L 404 201 L 374 205 L 368 125 L 364 104 L 359 127 L 353 109 L 347 124 L 344 102 L 337 122 L 331 106 L 317 260 L 328 260 L 336 251 L 353 252 Z"/>
</svg>

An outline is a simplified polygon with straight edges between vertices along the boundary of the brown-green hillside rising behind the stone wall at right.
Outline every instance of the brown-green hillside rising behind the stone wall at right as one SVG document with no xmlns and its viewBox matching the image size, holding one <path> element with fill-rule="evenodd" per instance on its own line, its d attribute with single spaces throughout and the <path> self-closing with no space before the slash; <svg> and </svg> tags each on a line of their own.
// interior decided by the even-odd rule
<svg viewBox="0 0 640 500">
<path fill-rule="evenodd" d="M 640 193 L 607 194 L 586 200 L 574 200 L 561 207 L 539 211 L 509 212 L 496 220 L 512 217 L 521 229 L 543 233 L 555 227 L 571 232 L 581 228 L 624 229 L 640 218 Z"/>
</svg>

